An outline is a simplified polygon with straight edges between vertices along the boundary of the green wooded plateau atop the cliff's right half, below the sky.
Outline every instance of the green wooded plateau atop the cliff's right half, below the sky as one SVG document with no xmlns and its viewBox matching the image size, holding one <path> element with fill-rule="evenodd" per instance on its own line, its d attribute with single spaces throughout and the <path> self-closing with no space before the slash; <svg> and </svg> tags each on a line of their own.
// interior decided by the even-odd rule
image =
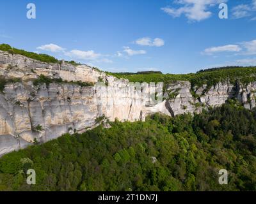
<svg viewBox="0 0 256 204">
<path fill-rule="evenodd" d="M 183 80 L 191 82 L 192 87 L 201 87 L 207 84 L 208 87 L 218 84 L 218 82 L 227 82 L 227 80 L 235 84 L 237 80 L 243 84 L 256 81 L 256 68 L 244 67 L 228 67 L 228 68 L 213 68 L 198 71 L 197 73 L 189 74 L 161 74 L 161 73 L 109 73 L 117 78 L 126 78 L 130 82 L 164 82 L 170 84 L 172 82 Z"/>
</svg>

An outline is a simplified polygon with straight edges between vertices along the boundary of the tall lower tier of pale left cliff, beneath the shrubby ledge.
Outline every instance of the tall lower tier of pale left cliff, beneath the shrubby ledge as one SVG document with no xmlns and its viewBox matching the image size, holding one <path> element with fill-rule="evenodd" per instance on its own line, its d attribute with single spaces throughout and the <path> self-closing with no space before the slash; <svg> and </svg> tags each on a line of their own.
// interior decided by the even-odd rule
<svg viewBox="0 0 256 204">
<path fill-rule="evenodd" d="M 146 101 L 141 100 L 140 92 L 128 82 L 108 79 L 112 84 L 108 87 L 68 83 L 34 86 L 31 82 L 6 85 L 0 94 L 0 154 L 64 133 L 86 131 L 103 115 L 111 121 L 143 120 Z"/>
</svg>

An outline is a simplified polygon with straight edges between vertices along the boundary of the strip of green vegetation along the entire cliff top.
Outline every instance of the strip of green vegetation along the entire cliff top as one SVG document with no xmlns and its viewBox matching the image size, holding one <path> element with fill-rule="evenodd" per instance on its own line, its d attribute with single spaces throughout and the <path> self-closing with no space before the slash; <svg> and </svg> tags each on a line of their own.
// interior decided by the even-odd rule
<svg viewBox="0 0 256 204">
<path fill-rule="evenodd" d="M 1 44 L 0 50 L 9 52 L 10 54 L 20 54 L 31 59 L 36 59 L 43 62 L 52 62 L 60 63 L 58 59 L 45 54 L 36 54 L 33 52 L 27 52 L 25 50 L 20 50 L 13 48 L 7 44 Z M 75 61 L 68 62 L 72 65 L 79 65 Z M 93 68 L 97 69 L 97 68 Z M 99 69 L 97 69 L 99 70 Z M 255 67 L 239 67 L 239 66 L 230 66 L 224 68 L 212 68 L 212 69 L 202 69 L 197 73 L 189 74 L 163 74 L 161 71 L 141 71 L 138 73 L 110 73 L 106 72 L 108 75 L 113 75 L 117 78 L 126 78 L 130 82 L 164 82 L 165 85 L 168 85 L 177 80 L 188 80 L 191 82 L 192 87 L 200 87 L 203 84 L 207 84 L 207 87 L 216 85 L 218 82 L 229 81 L 232 84 L 238 80 L 243 84 L 256 81 L 256 68 Z"/>
</svg>

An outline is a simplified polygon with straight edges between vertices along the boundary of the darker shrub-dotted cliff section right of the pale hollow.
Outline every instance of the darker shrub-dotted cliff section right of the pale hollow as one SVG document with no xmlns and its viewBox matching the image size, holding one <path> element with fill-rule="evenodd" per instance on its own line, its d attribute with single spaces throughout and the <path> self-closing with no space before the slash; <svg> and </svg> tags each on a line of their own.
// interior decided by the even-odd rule
<svg viewBox="0 0 256 204">
<path fill-rule="evenodd" d="M 210 87 L 209 91 L 207 91 L 207 85 L 203 85 L 194 90 L 198 98 L 193 98 L 191 89 L 189 82 L 170 84 L 168 90 L 175 93 L 175 97 L 168 100 L 168 109 L 172 115 L 200 113 L 203 108 L 223 105 L 229 98 L 236 98 L 243 104 L 244 108 L 249 110 L 255 107 L 256 82 L 245 86 L 220 82 Z"/>
</svg>

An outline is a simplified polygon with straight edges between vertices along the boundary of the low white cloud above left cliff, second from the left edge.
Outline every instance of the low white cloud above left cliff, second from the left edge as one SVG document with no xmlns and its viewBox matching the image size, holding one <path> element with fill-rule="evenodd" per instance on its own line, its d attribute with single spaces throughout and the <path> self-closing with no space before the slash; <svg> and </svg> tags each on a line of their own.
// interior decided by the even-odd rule
<svg viewBox="0 0 256 204">
<path fill-rule="evenodd" d="M 75 59 L 83 59 L 83 60 L 95 60 L 98 57 L 100 57 L 100 54 L 95 53 L 93 50 L 88 50 L 88 51 L 71 50 L 69 52 L 65 52 L 65 55 Z"/>
</svg>

